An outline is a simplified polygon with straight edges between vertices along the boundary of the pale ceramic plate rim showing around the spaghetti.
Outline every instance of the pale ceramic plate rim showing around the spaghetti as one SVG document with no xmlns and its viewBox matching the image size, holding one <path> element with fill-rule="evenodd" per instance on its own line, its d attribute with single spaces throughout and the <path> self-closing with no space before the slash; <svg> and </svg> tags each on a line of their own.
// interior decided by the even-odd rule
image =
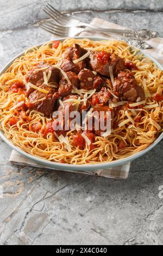
<svg viewBox="0 0 163 256">
<path fill-rule="evenodd" d="M 74 38 L 82 39 L 83 37 L 82 36 L 75 36 Z M 90 40 L 94 40 L 94 41 L 106 40 L 106 38 L 105 39 L 103 39 L 103 38 L 93 38 L 93 37 L 89 37 L 89 36 L 87 36 L 87 38 L 89 38 Z M 59 39 L 55 39 L 55 40 L 63 41 L 65 39 L 66 38 L 59 38 Z M 45 44 L 45 43 L 46 42 L 44 42 L 43 44 Z M 37 45 L 36 47 L 40 47 L 43 44 Z M 144 52 L 143 52 L 143 54 L 146 57 L 148 57 L 149 59 L 151 59 L 158 66 L 158 68 L 160 70 L 162 70 L 162 66 L 153 57 L 149 56 L 147 53 L 144 53 Z M 16 58 L 20 58 L 23 55 L 24 55 L 24 52 L 22 52 L 21 54 L 16 56 L 7 65 L 5 65 L 4 68 L 0 72 L 0 76 L 5 72 L 5 70 L 7 70 L 9 68 L 9 66 L 12 64 L 12 62 L 14 62 L 14 60 Z M 15 149 L 16 151 L 18 151 L 18 153 L 22 154 L 23 156 L 26 156 L 27 158 L 29 158 L 29 159 L 31 159 L 33 161 L 38 162 L 40 164 L 44 164 L 45 166 L 51 167 L 52 169 L 90 170 L 91 171 L 91 170 L 97 170 L 97 169 L 107 169 L 107 168 L 110 168 L 110 167 L 121 165 L 121 164 L 126 163 L 126 162 L 133 161 L 134 159 L 137 159 L 138 157 L 146 154 L 149 150 L 154 148 L 155 145 L 158 144 L 161 141 L 161 139 L 163 138 L 163 132 L 160 134 L 160 136 L 151 145 L 149 145 L 148 148 L 140 151 L 139 153 L 136 153 L 136 154 L 131 155 L 129 157 L 126 157 L 124 159 L 115 160 L 115 161 L 108 162 L 108 163 L 96 163 L 96 164 L 67 164 L 67 163 L 55 163 L 55 162 L 51 162 L 51 161 L 48 161 L 48 160 L 43 160 L 43 159 L 40 159 L 37 156 L 30 155 L 30 154 L 24 152 L 22 149 L 16 147 L 14 144 L 12 144 L 9 141 L 9 139 L 7 137 L 5 137 L 3 131 L 0 131 L 0 136 L 1 136 L 1 138 L 3 139 L 3 141 L 5 143 L 7 143 L 12 149 Z"/>
</svg>

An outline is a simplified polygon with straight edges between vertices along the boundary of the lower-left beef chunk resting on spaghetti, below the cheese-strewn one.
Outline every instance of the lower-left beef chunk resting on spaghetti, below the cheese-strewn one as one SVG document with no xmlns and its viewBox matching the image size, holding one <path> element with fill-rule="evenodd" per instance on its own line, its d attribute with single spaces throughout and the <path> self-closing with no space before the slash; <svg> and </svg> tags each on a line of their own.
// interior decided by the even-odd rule
<svg viewBox="0 0 163 256">
<path fill-rule="evenodd" d="M 43 113 L 46 117 L 48 117 L 53 112 L 55 103 L 55 89 L 46 86 L 45 84 L 42 84 L 41 86 L 39 86 L 39 88 L 48 90 L 49 93 L 46 94 L 40 92 L 39 90 L 34 90 L 32 93 L 29 94 L 27 107 L 29 109 L 39 111 Z"/>
</svg>

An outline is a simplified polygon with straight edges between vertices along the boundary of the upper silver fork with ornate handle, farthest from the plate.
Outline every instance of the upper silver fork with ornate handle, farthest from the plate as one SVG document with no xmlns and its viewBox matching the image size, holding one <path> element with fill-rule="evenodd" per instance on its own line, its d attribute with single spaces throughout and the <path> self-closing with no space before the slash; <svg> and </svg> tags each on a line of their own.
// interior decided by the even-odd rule
<svg viewBox="0 0 163 256">
<path fill-rule="evenodd" d="M 67 17 L 66 15 L 60 13 L 60 11 L 56 10 L 51 4 L 47 4 L 43 10 L 51 17 L 55 24 L 64 27 L 90 27 L 93 28 L 90 24 L 80 22 L 76 19 L 72 19 L 71 17 Z M 95 27 L 94 27 L 95 28 Z M 104 28 L 101 28 L 101 31 Z M 97 28 L 96 28 L 97 31 Z M 132 36 L 135 38 L 139 38 L 141 40 L 148 40 L 150 38 L 154 38 L 158 36 L 158 32 L 151 31 L 149 29 L 139 29 L 135 31 L 134 29 L 110 29 L 108 28 L 108 33 L 118 33 L 126 36 Z"/>
</svg>

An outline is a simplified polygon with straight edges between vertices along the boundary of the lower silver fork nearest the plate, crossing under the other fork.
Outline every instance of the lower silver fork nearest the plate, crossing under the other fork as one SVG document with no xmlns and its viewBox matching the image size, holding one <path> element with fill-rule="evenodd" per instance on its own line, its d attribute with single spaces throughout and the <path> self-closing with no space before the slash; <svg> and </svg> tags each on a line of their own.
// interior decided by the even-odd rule
<svg viewBox="0 0 163 256">
<path fill-rule="evenodd" d="M 54 24 L 51 21 L 46 21 L 45 23 L 42 23 L 40 25 L 41 28 L 45 29 L 46 31 L 52 33 L 52 34 L 57 34 L 59 36 L 68 36 L 68 37 L 73 37 L 75 35 L 79 35 L 80 33 L 84 31 L 99 31 L 99 32 L 108 32 L 108 29 L 101 29 L 101 28 L 79 28 L 79 27 L 62 27 L 57 24 Z M 120 29 L 121 30 L 121 29 Z M 142 49 L 149 49 L 152 48 L 151 45 L 147 44 L 147 42 L 138 39 L 138 38 L 116 38 L 118 40 L 123 40 L 128 42 L 130 45 L 134 45 L 137 48 L 142 48 Z"/>
</svg>

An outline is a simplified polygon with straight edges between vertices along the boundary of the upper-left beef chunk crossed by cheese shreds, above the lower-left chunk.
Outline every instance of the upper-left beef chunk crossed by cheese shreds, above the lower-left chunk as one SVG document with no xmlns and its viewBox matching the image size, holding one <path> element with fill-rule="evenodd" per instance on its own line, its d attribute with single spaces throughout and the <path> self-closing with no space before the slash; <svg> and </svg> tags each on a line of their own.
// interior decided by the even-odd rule
<svg viewBox="0 0 163 256">
<path fill-rule="evenodd" d="M 45 70 L 38 70 L 42 68 L 46 68 Z M 29 74 L 27 76 L 27 82 L 30 82 L 34 85 L 41 85 L 43 84 L 43 72 L 46 72 L 46 75 L 48 75 L 49 70 L 52 71 L 51 77 L 49 78 L 49 83 L 54 82 L 58 83 L 59 82 L 59 75 L 60 75 L 60 70 L 57 68 L 54 68 L 53 66 L 45 63 L 39 64 L 36 69 L 33 69 L 32 71 L 29 71 Z"/>
</svg>

